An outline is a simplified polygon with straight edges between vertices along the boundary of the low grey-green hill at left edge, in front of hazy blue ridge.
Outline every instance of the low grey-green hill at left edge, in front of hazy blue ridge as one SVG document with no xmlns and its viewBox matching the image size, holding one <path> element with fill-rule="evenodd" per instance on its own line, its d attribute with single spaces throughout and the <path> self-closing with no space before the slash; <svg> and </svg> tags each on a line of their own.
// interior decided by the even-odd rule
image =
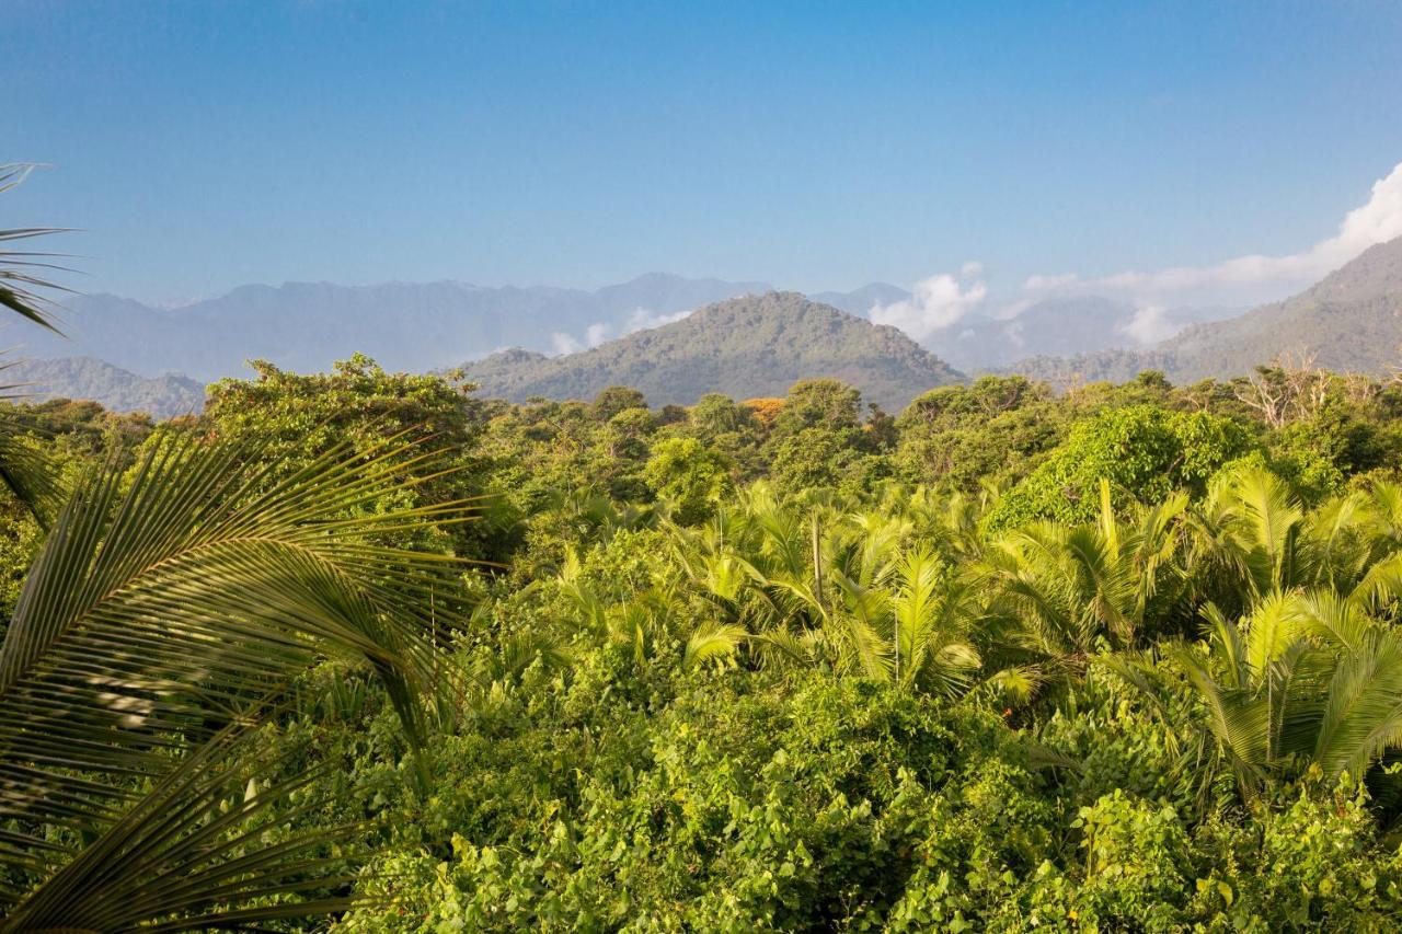
<svg viewBox="0 0 1402 934">
<path fill-rule="evenodd" d="M 36 400 L 94 400 L 116 412 L 156 418 L 198 412 L 205 405 L 203 383 L 179 374 L 137 376 L 90 356 L 20 360 L 6 366 L 0 380 L 22 384 L 15 391 Z"/>
</svg>

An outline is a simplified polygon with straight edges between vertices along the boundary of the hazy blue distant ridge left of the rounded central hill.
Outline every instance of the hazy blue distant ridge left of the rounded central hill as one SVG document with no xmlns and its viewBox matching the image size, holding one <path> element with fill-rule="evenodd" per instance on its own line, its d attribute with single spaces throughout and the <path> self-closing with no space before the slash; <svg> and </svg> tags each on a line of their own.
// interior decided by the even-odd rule
<svg viewBox="0 0 1402 934">
<path fill-rule="evenodd" d="M 557 332 L 575 339 L 592 327 L 621 332 L 639 313 L 669 316 L 768 289 L 655 273 L 596 292 L 289 282 L 240 286 L 179 309 L 93 295 L 67 302 L 67 341 L 38 331 L 21 339 L 29 356 L 97 356 L 137 373 L 179 370 L 205 380 L 243 373 L 244 360 L 255 358 L 324 370 L 358 351 L 386 369 L 428 370 L 503 346 L 550 349 Z"/>
</svg>

